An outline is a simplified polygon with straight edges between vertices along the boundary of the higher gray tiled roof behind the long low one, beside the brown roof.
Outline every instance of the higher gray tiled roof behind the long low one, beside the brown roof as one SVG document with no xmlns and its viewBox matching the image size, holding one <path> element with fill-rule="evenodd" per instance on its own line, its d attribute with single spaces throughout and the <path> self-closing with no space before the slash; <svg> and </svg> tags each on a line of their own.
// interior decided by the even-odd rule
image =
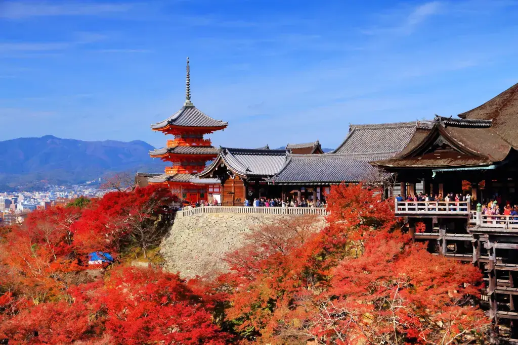
<svg viewBox="0 0 518 345">
<path fill-rule="evenodd" d="M 393 153 L 400 152 L 418 127 L 429 121 L 399 122 L 377 125 L 351 125 L 346 139 L 332 153 Z"/>
</svg>

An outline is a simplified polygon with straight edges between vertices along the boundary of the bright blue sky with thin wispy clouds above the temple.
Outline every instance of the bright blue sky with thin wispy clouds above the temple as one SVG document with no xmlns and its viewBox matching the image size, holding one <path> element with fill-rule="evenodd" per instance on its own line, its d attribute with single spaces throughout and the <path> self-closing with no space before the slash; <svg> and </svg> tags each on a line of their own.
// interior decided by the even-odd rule
<svg viewBox="0 0 518 345">
<path fill-rule="evenodd" d="M 144 140 L 184 101 L 215 145 L 336 147 L 349 124 L 474 108 L 518 82 L 515 1 L 0 0 L 0 140 Z"/>
</svg>

